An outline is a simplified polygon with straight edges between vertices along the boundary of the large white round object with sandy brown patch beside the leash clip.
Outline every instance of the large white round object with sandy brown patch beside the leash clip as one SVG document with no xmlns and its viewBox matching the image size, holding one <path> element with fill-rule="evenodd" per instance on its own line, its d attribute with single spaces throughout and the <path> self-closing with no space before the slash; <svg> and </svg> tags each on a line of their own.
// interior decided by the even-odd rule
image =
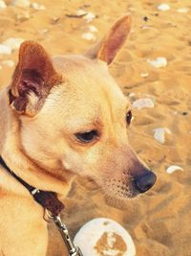
<svg viewBox="0 0 191 256">
<path fill-rule="evenodd" d="M 97 218 L 84 224 L 74 237 L 84 256 L 135 256 L 129 233 L 116 221 Z"/>
</svg>

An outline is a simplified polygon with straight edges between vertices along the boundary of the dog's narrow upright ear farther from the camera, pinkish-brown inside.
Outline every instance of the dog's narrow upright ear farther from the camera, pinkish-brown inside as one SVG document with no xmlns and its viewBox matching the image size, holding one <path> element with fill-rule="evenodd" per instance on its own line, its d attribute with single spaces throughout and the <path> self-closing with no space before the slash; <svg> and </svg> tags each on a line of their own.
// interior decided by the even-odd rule
<svg viewBox="0 0 191 256">
<path fill-rule="evenodd" d="M 131 27 L 131 17 L 125 15 L 117 20 L 108 34 L 85 55 L 89 58 L 99 58 L 109 65 L 117 56 L 117 52 L 124 44 Z"/>
</svg>

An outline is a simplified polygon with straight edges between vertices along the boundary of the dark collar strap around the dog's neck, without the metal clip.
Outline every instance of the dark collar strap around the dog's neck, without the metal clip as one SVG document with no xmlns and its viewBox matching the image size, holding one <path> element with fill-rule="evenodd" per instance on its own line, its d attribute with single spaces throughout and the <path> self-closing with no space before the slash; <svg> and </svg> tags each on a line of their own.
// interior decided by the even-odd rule
<svg viewBox="0 0 191 256">
<path fill-rule="evenodd" d="M 60 214 L 64 208 L 64 204 L 58 200 L 56 193 L 52 191 L 43 191 L 32 187 L 25 180 L 15 175 L 11 171 L 2 156 L 0 156 L 0 165 L 30 192 L 34 200 L 37 201 L 43 208 L 50 211 L 53 216 Z"/>
</svg>

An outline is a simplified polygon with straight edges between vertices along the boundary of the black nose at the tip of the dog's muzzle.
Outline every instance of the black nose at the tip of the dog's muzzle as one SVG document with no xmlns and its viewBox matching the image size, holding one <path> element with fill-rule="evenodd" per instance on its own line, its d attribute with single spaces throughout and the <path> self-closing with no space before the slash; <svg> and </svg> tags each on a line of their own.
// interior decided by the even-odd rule
<svg viewBox="0 0 191 256">
<path fill-rule="evenodd" d="M 145 175 L 138 176 L 134 179 L 136 188 L 139 193 L 144 193 L 155 184 L 157 176 L 153 172 L 148 172 Z"/>
</svg>

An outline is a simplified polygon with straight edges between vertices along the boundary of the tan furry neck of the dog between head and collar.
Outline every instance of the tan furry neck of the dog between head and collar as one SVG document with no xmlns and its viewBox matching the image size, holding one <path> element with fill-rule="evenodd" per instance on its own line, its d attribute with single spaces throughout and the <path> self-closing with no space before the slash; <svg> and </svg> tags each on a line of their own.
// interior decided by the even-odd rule
<svg viewBox="0 0 191 256">
<path fill-rule="evenodd" d="M 7 90 L 0 93 L 0 155 L 11 170 L 33 187 L 66 195 L 73 179 L 72 174 L 60 178 L 43 167 L 36 165 L 22 149 L 20 142 L 20 121 L 7 101 Z M 70 181 L 69 181 L 70 180 Z"/>
</svg>

